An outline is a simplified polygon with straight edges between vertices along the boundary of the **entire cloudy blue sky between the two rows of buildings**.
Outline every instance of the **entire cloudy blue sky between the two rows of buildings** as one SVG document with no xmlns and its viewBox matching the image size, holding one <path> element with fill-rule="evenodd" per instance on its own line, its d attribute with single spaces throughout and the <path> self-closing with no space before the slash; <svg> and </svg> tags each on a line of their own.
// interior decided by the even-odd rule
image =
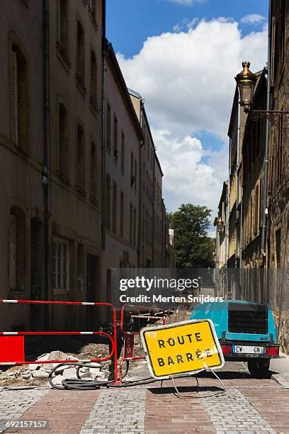
<svg viewBox="0 0 289 434">
<path fill-rule="evenodd" d="M 108 0 L 107 37 L 140 92 L 169 211 L 215 216 L 227 179 L 227 129 L 242 60 L 266 65 L 267 0 Z"/>
</svg>

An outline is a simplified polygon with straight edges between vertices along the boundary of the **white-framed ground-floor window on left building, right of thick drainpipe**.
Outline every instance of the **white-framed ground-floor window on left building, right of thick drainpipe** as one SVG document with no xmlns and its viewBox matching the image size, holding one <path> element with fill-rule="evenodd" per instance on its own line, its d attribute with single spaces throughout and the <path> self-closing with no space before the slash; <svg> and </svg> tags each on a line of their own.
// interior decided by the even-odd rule
<svg viewBox="0 0 289 434">
<path fill-rule="evenodd" d="M 53 238 L 52 286 L 55 292 L 69 292 L 69 241 Z"/>
</svg>

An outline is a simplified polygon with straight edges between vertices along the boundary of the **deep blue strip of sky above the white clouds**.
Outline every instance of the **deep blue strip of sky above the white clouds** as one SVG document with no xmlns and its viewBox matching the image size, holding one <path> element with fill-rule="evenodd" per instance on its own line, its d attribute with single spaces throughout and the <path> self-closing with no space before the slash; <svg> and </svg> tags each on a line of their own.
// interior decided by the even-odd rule
<svg viewBox="0 0 289 434">
<path fill-rule="evenodd" d="M 107 0 L 107 36 L 115 51 L 127 57 L 137 54 L 148 36 L 171 31 L 184 18 L 217 18 L 224 16 L 241 21 L 256 13 L 268 16 L 268 0 L 207 0 L 183 6 L 166 0 Z M 255 23 L 260 30 L 263 22 Z M 252 27 L 241 23 L 242 32 Z"/>
</svg>

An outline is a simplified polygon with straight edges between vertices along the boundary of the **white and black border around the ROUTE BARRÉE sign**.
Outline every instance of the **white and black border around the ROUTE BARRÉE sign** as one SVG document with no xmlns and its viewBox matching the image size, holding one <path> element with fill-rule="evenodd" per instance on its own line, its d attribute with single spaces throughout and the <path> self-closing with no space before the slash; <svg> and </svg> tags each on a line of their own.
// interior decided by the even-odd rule
<svg viewBox="0 0 289 434">
<path fill-rule="evenodd" d="M 217 352 L 218 352 L 218 355 L 220 358 L 220 365 L 210 366 L 210 369 L 220 369 L 225 365 L 225 359 L 224 359 L 224 355 L 222 353 L 222 348 L 221 348 L 220 342 L 217 338 L 217 334 L 215 332 L 215 327 L 214 327 L 214 324 L 212 323 L 212 320 L 210 320 L 209 318 L 205 318 L 205 319 L 200 319 L 200 320 L 180 321 L 179 323 L 159 325 L 157 327 L 145 327 L 145 328 L 142 328 L 142 330 L 140 330 L 140 338 L 142 340 L 142 347 L 145 350 L 145 357 L 147 359 L 147 366 L 149 367 L 149 372 L 152 375 L 152 377 L 154 377 L 156 379 L 169 379 L 173 375 L 174 375 L 174 377 L 178 377 L 178 376 L 183 375 L 183 374 L 190 374 L 190 373 L 197 374 L 198 372 L 205 371 L 205 369 L 208 369 L 206 367 L 203 367 L 201 369 L 196 369 L 196 370 L 192 370 L 192 371 L 184 371 L 184 372 L 178 372 L 177 374 L 166 374 L 166 375 L 162 375 L 162 376 L 159 376 L 159 375 L 155 374 L 155 372 L 154 372 L 154 367 L 152 365 L 152 359 L 150 357 L 149 350 L 147 347 L 147 340 L 145 338 L 145 333 L 146 332 L 152 332 L 153 330 L 164 330 L 164 329 L 168 329 L 168 328 L 176 328 L 176 327 L 179 327 L 180 325 L 188 325 L 188 324 L 192 324 L 192 323 L 193 324 L 208 323 L 210 326 L 210 331 L 212 332 L 212 338 L 214 340 L 214 343 L 215 343 L 215 346 L 217 348 Z"/>
</svg>

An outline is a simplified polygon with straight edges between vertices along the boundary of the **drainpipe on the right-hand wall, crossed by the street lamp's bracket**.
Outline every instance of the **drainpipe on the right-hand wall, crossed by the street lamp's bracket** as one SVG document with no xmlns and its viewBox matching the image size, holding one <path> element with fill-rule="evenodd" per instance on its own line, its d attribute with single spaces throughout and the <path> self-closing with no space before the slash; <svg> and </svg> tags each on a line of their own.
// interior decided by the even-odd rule
<svg viewBox="0 0 289 434">
<path fill-rule="evenodd" d="M 270 110 L 270 69 L 271 69 L 271 0 L 269 0 L 268 11 L 268 63 L 267 63 L 267 100 L 266 110 Z M 269 153 L 269 121 L 266 119 L 266 136 L 265 136 L 265 155 L 264 155 L 264 182 L 263 182 L 263 218 L 262 218 L 262 235 L 261 235 L 261 255 L 263 260 L 266 259 L 266 228 L 267 228 L 267 191 L 268 191 L 268 153 Z"/>
</svg>

